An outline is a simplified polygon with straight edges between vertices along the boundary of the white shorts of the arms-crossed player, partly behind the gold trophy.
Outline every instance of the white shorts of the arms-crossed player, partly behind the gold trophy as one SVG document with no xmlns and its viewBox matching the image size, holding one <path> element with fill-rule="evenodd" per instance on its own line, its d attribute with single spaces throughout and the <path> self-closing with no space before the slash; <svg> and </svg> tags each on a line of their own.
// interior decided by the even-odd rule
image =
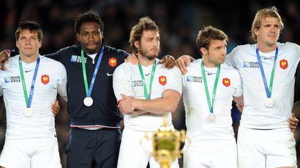
<svg viewBox="0 0 300 168">
<path fill-rule="evenodd" d="M 146 168 L 149 162 L 151 168 L 160 168 L 159 163 L 151 156 L 152 134 L 148 132 L 149 140 L 144 140 L 144 131 L 135 131 L 125 127 L 122 133 L 121 147 L 117 168 Z M 170 168 L 179 168 L 176 159 Z"/>
</svg>

